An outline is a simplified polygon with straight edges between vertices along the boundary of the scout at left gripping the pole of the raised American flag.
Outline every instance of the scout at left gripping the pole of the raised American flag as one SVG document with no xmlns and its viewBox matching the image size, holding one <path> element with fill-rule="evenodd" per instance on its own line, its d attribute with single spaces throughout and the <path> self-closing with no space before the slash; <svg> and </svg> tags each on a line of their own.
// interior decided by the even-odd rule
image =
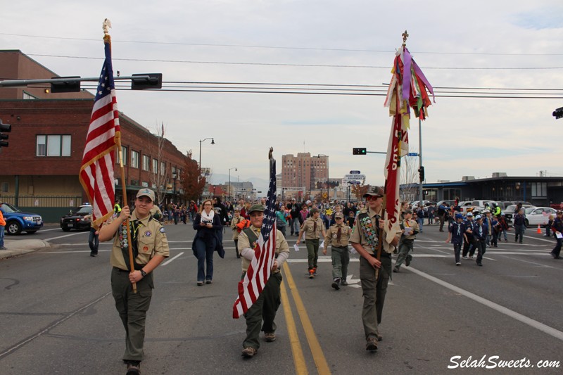
<svg viewBox="0 0 563 375">
<path fill-rule="evenodd" d="M 114 239 L 110 255 L 111 290 L 125 327 L 123 362 L 127 364 L 128 375 L 140 374 L 144 359 L 146 312 L 154 288 L 153 270 L 170 255 L 164 227 L 153 220 L 150 212 L 154 198 L 151 189 L 139 190 L 134 211 L 130 212 L 126 205 L 120 215 L 115 213 L 103 224 L 99 233 L 100 241 Z M 129 215 L 129 228 L 126 228 L 124 223 Z M 134 269 L 130 269 L 127 231 L 131 232 Z M 132 283 L 137 284 L 137 293 L 133 293 Z"/>
</svg>

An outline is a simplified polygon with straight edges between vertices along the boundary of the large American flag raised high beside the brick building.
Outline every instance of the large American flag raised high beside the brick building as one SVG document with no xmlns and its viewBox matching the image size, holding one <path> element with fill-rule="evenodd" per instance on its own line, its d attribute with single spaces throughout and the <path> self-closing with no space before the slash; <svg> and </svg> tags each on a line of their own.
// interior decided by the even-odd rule
<svg viewBox="0 0 563 375">
<path fill-rule="evenodd" d="M 92 223 L 99 227 L 113 213 L 113 166 L 120 137 L 118 102 L 115 98 L 111 44 L 106 40 L 106 60 L 101 69 L 79 179 L 92 204 Z"/>
</svg>

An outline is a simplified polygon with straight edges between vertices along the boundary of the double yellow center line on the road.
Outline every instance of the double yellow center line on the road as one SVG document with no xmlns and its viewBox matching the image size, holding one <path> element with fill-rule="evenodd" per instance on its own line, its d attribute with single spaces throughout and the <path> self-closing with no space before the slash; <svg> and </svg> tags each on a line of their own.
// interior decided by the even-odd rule
<svg viewBox="0 0 563 375">
<path fill-rule="evenodd" d="M 286 277 L 287 285 L 289 286 L 289 290 L 293 296 L 293 301 L 295 302 L 299 319 L 301 319 L 301 324 L 303 324 L 303 331 L 305 331 L 305 336 L 307 337 L 313 360 L 315 360 L 317 371 L 321 375 L 330 374 L 329 364 L 327 363 L 327 359 L 324 357 L 321 345 L 317 340 L 315 330 L 312 328 L 307 310 L 305 310 L 305 305 L 303 305 L 301 295 L 299 295 L 299 291 L 297 290 L 295 281 L 293 281 L 293 276 L 291 275 L 291 271 L 289 270 L 287 263 L 284 263 L 283 268 L 284 276 Z M 287 331 L 289 333 L 289 341 L 291 343 L 291 352 L 293 352 L 293 362 L 295 362 L 296 374 L 308 374 L 305 357 L 303 356 L 303 348 L 301 348 L 295 319 L 293 319 L 293 313 L 291 312 L 291 306 L 289 305 L 289 298 L 283 282 L 281 283 L 281 304 L 284 306 L 284 314 L 286 316 Z"/>
</svg>

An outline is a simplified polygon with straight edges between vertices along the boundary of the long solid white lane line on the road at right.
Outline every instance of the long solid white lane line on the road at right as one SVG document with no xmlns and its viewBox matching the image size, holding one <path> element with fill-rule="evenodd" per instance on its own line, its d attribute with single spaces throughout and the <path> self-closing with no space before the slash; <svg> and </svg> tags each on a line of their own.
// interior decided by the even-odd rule
<svg viewBox="0 0 563 375">
<path fill-rule="evenodd" d="M 482 305 L 485 305 L 487 307 L 491 307 L 491 309 L 496 310 L 498 312 L 500 312 L 501 314 L 505 314 L 508 317 L 512 317 L 513 319 L 516 319 L 519 322 L 522 322 L 524 324 L 527 324 L 535 329 L 538 329 L 539 331 L 542 331 L 544 333 L 548 333 L 548 335 L 553 336 L 555 338 L 559 338 L 559 340 L 563 341 L 563 332 L 559 331 L 553 327 L 550 327 L 546 324 L 540 323 L 537 320 L 531 319 L 529 317 L 526 317 L 525 315 L 522 315 L 518 312 L 515 312 L 513 310 L 508 309 L 507 307 L 501 306 L 498 303 L 494 303 L 491 300 L 487 300 L 486 298 L 483 298 L 479 295 L 476 295 L 474 293 L 471 293 L 469 291 L 466 291 L 465 289 L 462 288 L 458 288 L 455 285 L 452 285 L 448 282 L 445 282 L 441 279 L 438 279 L 436 277 L 433 277 L 429 274 L 426 274 L 426 272 L 422 272 L 419 271 L 418 269 L 409 267 L 408 268 L 410 270 L 410 272 L 413 272 L 415 274 L 418 274 L 421 277 L 424 277 L 424 279 L 427 279 L 429 281 L 432 281 L 438 285 L 441 285 L 445 288 L 450 289 L 450 291 L 454 291 L 455 293 L 459 293 L 461 295 L 464 295 L 465 297 L 476 301 L 477 303 L 481 303 Z"/>
</svg>

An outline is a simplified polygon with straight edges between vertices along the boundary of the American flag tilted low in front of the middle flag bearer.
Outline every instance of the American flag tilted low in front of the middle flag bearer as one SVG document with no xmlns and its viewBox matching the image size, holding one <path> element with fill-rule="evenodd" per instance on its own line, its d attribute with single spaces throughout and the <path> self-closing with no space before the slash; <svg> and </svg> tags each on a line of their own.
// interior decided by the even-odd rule
<svg viewBox="0 0 563 375">
<path fill-rule="evenodd" d="M 245 314 L 264 290 L 276 255 L 276 160 L 270 158 L 270 186 L 260 237 L 254 248 L 254 258 L 243 281 L 239 281 L 239 297 L 233 305 L 233 318 Z"/>
</svg>

